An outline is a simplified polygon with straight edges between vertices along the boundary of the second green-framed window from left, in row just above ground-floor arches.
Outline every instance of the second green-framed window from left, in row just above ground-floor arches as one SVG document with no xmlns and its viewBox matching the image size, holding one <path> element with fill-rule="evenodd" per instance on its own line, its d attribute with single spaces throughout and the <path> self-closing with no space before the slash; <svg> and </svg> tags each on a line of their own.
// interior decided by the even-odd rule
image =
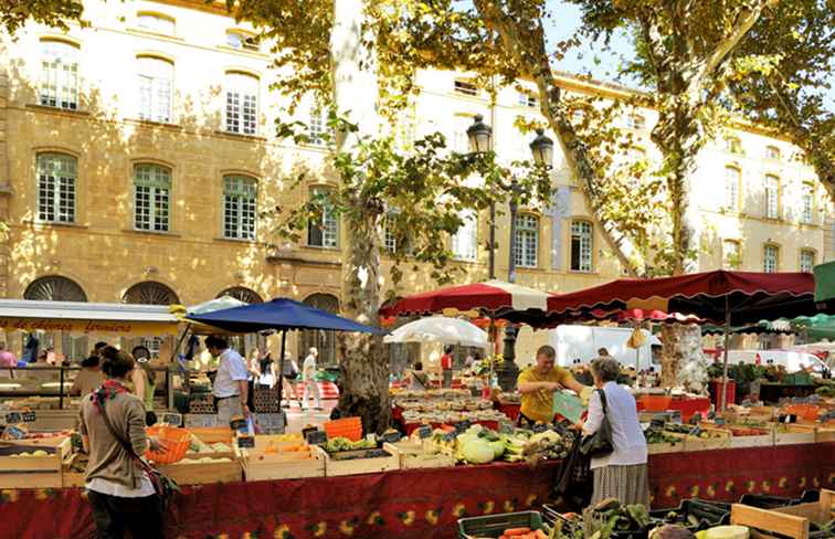
<svg viewBox="0 0 835 539">
<path fill-rule="evenodd" d="M 171 214 L 171 169 L 152 163 L 134 167 L 134 226 L 168 232 Z"/>
</svg>

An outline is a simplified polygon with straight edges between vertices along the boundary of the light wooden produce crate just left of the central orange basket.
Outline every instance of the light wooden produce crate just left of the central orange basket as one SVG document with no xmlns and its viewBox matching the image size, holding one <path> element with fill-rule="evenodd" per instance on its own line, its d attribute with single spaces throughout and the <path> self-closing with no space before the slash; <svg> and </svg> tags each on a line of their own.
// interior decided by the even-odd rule
<svg viewBox="0 0 835 539">
<path fill-rule="evenodd" d="M 235 447 L 243 465 L 244 480 L 325 477 L 325 461 L 317 447 L 307 446 L 305 451 L 281 451 L 304 442 L 284 442 L 279 436 L 269 434 L 256 434 L 254 438 L 254 447 Z M 273 447 L 277 452 L 269 452 Z"/>
</svg>

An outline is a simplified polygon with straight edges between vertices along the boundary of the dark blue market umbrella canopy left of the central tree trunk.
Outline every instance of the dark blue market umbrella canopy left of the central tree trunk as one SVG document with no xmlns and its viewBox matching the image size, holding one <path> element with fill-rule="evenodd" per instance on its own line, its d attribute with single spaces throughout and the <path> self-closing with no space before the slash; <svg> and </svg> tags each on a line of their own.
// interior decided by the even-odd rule
<svg viewBox="0 0 835 539">
<path fill-rule="evenodd" d="M 282 297 L 262 304 L 244 305 L 201 315 L 189 314 L 186 318 L 241 334 L 263 331 L 264 329 L 332 329 L 363 334 L 384 332 L 379 328 L 364 326 L 348 318 L 331 315 L 328 311 Z"/>
</svg>

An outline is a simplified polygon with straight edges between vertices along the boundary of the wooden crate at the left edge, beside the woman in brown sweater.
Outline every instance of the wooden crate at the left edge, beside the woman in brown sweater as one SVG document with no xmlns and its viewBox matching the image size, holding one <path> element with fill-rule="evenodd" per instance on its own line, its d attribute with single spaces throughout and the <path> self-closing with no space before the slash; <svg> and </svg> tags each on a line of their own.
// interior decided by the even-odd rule
<svg viewBox="0 0 835 539">
<path fill-rule="evenodd" d="M 0 488 L 59 488 L 64 458 L 72 448 L 68 437 L 0 442 Z M 36 442 L 36 443 L 30 443 Z M 46 456 L 12 457 L 45 451 Z"/>
</svg>

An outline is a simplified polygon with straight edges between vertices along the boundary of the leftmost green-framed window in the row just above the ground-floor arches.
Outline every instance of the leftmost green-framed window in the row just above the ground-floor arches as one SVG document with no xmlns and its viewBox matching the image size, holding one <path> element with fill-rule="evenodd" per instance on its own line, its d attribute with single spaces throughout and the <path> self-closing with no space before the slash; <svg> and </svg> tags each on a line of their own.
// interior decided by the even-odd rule
<svg viewBox="0 0 835 539">
<path fill-rule="evenodd" d="M 77 161 L 64 154 L 38 155 L 38 219 L 75 222 Z"/>
</svg>

